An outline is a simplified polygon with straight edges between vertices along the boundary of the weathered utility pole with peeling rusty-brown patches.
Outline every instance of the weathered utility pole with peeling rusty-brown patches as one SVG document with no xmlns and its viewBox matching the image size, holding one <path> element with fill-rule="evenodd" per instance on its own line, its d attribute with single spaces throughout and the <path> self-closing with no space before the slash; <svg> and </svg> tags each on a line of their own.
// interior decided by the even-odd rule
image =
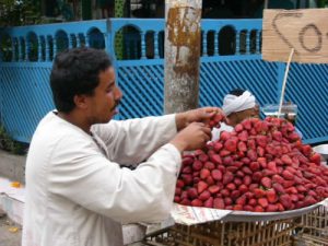
<svg viewBox="0 0 328 246">
<path fill-rule="evenodd" d="M 197 108 L 202 0 L 165 2 L 165 114 Z"/>
</svg>

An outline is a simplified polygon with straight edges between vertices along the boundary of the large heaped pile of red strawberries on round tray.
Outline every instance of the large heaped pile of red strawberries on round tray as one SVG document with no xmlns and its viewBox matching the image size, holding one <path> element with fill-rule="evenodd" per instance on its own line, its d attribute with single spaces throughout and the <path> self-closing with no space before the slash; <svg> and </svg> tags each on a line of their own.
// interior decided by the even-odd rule
<svg viewBox="0 0 328 246">
<path fill-rule="evenodd" d="M 300 209 L 328 198 L 328 168 L 283 119 L 247 119 L 206 150 L 184 155 L 174 201 L 254 212 Z"/>
</svg>

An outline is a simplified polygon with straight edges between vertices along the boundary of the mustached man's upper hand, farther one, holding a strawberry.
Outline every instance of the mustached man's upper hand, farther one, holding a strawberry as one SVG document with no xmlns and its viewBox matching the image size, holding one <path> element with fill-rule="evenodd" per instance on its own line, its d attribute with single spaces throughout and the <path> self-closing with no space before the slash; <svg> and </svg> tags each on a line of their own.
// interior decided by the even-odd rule
<svg viewBox="0 0 328 246">
<path fill-rule="evenodd" d="M 216 114 L 223 115 L 222 109 L 219 107 L 203 107 L 179 113 L 175 118 L 177 130 L 179 131 L 184 129 L 191 122 L 208 124 L 210 119 Z"/>
</svg>

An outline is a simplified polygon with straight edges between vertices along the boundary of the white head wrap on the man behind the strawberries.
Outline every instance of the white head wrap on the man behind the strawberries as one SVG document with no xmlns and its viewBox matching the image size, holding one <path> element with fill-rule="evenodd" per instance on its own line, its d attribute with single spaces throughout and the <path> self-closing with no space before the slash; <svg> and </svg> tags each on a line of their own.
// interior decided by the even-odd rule
<svg viewBox="0 0 328 246">
<path fill-rule="evenodd" d="M 234 112 L 242 112 L 255 107 L 255 96 L 246 91 L 239 96 L 227 94 L 223 98 L 222 109 L 226 116 Z"/>
</svg>

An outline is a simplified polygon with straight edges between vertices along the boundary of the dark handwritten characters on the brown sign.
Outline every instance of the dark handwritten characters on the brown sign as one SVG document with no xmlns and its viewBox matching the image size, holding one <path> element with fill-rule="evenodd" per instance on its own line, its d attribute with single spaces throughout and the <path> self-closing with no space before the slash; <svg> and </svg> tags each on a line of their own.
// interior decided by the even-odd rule
<svg viewBox="0 0 328 246">
<path fill-rule="evenodd" d="M 293 13 L 278 13 L 273 20 L 272 20 L 272 27 L 274 30 L 274 32 L 277 33 L 277 35 L 284 42 L 284 44 L 286 44 L 289 46 L 289 48 L 294 48 L 295 50 L 295 54 L 296 55 L 300 55 L 300 50 L 298 48 L 296 48 L 296 44 L 292 44 L 292 42 L 289 39 L 288 36 L 285 36 L 282 31 L 280 30 L 279 25 L 278 25 L 278 21 L 279 20 L 282 20 L 282 19 L 291 19 L 291 17 L 294 17 L 294 19 L 298 19 L 297 21 L 300 21 L 300 19 L 303 16 L 303 13 L 301 12 L 293 12 Z M 307 34 L 312 31 L 313 36 L 316 37 L 316 44 L 314 47 L 308 47 L 306 44 L 305 44 L 305 40 L 306 40 L 306 37 L 307 37 Z M 326 34 L 326 37 L 328 38 L 328 33 Z M 314 39 L 315 40 L 315 39 Z M 301 45 L 301 47 L 307 51 L 307 52 L 311 52 L 311 54 L 314 54 L 314 52 L 318 52 L 321 50 L 323 48 L 323 33 L 320 32 L 320 30 L 317 27 L 317 25 L 315 23 L 309 23 L 309 24 L 306 24 L 304 27 L 301 28 L 301 31 L 298 32 L 298 43 Z"/>
</svg>

